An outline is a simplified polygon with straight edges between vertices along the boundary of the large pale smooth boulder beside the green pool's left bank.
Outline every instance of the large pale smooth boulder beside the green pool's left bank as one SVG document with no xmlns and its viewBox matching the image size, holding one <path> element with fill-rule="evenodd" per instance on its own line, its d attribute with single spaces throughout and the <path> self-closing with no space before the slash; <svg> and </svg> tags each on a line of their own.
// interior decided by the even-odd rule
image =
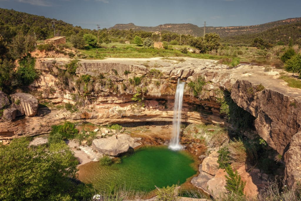
<svg viewBox="0 0 301 201">
<path fill-rule="evenodd" d="M 92 148 L 106 155 L 117 156 L 129 150 L 129 143 L 114 138 L 100 138 L 92 141 Z"/>
</svg>

